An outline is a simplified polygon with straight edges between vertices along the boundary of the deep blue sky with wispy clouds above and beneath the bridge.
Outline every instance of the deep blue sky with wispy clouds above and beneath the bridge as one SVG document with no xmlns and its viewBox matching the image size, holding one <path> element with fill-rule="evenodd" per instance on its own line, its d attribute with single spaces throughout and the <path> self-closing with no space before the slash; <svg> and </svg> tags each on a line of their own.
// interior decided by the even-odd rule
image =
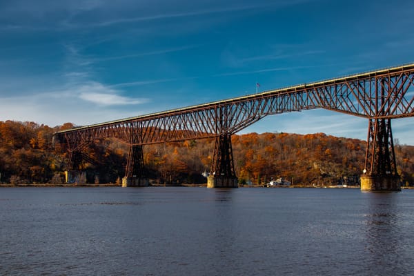
<svg viewBox="0 0 414 276">
<path fill-rule="evenodd" d="M 94 124 L 414 61 L 414 1 L 0 1 L 0 120 Z M 393 121 L 414 145 L 414 119 Z M 242 132 L 366 139 L 325 110 Z"/>
</svg>

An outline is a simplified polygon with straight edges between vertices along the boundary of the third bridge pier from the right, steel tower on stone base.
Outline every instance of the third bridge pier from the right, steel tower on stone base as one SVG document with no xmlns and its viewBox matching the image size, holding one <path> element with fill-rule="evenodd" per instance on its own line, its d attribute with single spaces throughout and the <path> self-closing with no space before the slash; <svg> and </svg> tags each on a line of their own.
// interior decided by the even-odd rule
<svg viewBox="0 0 414 276">
<path fill-rule="evenodd" d="M 144 187 L 148 186 L 148 182 L 145 178 L 142 145 L 130 145 L 122 187 Z"/>
</svg>

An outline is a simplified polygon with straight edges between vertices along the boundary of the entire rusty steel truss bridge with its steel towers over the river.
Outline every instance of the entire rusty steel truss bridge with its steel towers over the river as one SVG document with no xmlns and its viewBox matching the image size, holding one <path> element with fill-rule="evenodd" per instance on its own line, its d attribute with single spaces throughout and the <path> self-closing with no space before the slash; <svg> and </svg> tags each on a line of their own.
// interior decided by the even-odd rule
<svg viewBox="0 0 414 276">
<path fill-rule="evenodd" d="M 81 152 L 94 140 L 126 142 L 126 179 L 144 179 L 144 145 L 213 137 L 210 175 L 237 179 L 231 135 L 268 115 L 324 108 L 368 119 L 364 175 L 397 179 L 391 119 L 413 117 L 413 102 L 414 63 L 62 130 L 55 137 L 68 146 L 68 171 L 79 170 Z"/>
</svg>

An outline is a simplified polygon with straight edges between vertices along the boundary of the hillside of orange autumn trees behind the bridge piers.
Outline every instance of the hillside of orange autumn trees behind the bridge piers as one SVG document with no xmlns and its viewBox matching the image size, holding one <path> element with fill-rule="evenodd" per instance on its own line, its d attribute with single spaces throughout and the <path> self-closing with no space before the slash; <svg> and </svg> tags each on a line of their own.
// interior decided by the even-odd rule
<svg viewBox="0 0 414 276">
<path fill-rule="evenodd" d="M 66 146 L 53 144 L 50 128 L 33 122 L 0 121 L 0 181 L 3 183 L 61 183 Z M 366 142 L 324 135 L 251 133 L 234 135 L 233 155 L 239 182 L 264 184 L 283 177 L 297 185 L 354 184 L 364 169 Z M 201 139 L 144 146 L 148 177 L 159 184 L 199 184 L 208 172 L 213 140 Z M 83 163 L 89 183 L 115 183 L 123 177 L 128 146 L 116 139 L 97 141 Z M 403 184 L 414 184 L 414 146 L 395 145 Z"/>
</svg>

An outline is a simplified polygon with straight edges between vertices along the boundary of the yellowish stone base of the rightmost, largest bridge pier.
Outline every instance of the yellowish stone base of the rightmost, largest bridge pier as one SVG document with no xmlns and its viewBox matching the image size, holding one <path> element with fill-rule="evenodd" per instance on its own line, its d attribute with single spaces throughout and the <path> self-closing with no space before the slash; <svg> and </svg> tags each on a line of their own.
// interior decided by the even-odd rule
<svg viewBox="0 0 414 276">
<path fill-rule="evenodd" d="M 401 190 L 400 178 L 382 175 L 362 175 L 361 190 Z"/>
</svg>

